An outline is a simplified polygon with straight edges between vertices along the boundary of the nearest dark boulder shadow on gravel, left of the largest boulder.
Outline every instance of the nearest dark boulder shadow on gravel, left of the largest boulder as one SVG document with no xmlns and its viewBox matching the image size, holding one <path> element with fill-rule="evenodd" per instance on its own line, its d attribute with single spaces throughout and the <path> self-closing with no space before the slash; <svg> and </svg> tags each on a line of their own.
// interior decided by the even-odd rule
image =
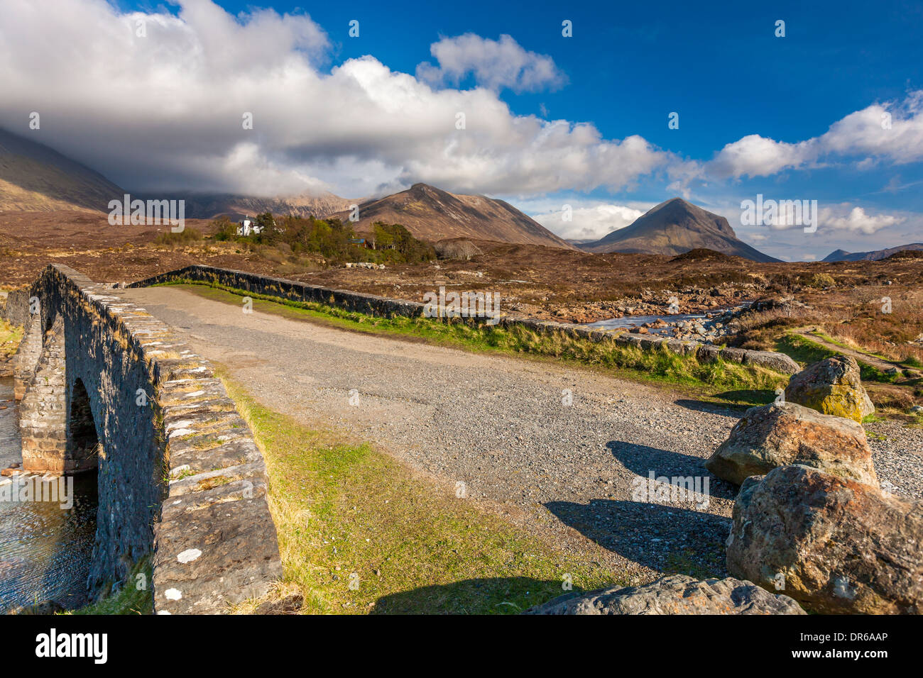
<svg viewBox="0 0 923 678">
<path fill-rule="evenodd" d="M 604 548 L 667 574 L 725 577 L 729 517 L 642 502 L 547 502 L 565 525 Z"/>
</svg>

